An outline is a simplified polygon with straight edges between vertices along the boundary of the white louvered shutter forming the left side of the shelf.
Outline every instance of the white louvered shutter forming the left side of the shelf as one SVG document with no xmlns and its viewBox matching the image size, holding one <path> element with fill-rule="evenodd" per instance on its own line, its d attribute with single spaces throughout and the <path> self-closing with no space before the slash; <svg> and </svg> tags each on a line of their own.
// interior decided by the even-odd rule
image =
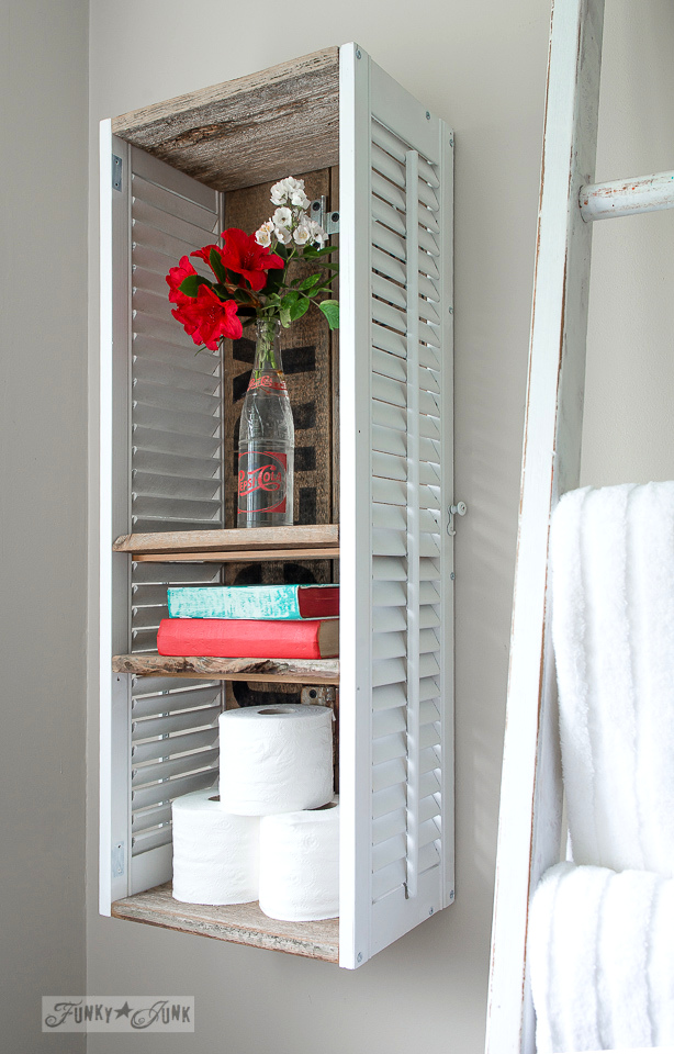
<svg viewBox="0 0 674 1054">
<path fill-rule="evenodd" d="M 119 189 L 104 186 L 111 153 L 120 158 Z M 101 401 L 112 439 L 101 444 L 101 490 L 104 506 L 108 483 L 112 505 L 101 511 L 101 579 L 103 585 L 111 575 L 117 613 L 110 627 L 103 617 L 104 684 L 112 654 L 156 650 L 168 582 L 202 585 L 221 576 L 216 564 L 154 562 L 132 562 L 130 575 L 125 554 L 113 554 L 110 564 L 114 537 L 220 528 L 224 506 L 222 359 L 195 354 L 170 315 L 165 280 L 181 256 L 217 239 L 218 195 L 109 130 L 102 158 L 102 328 L 110 355 Z M 200 260 L 195 266 L 203 271 Z M 112 300 L 103 288 L 110 271 Z M 102 826 L 110 825 L 101 838 L 101 910 L 109 912 L 111 899 L 171 876 L 171 800 L 217 778 L 222 682 L 114 674 L 110 698 L 101 702 Z"/>
</svg>

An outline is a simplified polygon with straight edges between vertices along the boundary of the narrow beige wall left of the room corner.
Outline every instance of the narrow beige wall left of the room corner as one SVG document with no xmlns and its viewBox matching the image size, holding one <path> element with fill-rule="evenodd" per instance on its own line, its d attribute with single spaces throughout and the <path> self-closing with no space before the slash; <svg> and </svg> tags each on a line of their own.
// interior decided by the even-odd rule
<svg viewBox="0 0 674 1054">
<path fill-rule="evenodd" d="M 0 1049 L 85 989 L 86 0 L 0 0 Z"/>
</svg>

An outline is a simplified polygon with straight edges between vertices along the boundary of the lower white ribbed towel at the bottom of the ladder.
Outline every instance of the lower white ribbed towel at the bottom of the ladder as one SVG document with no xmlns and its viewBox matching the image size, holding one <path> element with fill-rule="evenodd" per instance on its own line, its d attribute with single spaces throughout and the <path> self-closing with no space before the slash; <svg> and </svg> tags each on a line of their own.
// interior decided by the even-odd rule
<svg viewBox="0 0 674 1054">
<path fill-rule="evenodd" d="M 674 879 L 564 863 L 532 898 L 538 1054 L 674 1044 Z"/>
</svg>

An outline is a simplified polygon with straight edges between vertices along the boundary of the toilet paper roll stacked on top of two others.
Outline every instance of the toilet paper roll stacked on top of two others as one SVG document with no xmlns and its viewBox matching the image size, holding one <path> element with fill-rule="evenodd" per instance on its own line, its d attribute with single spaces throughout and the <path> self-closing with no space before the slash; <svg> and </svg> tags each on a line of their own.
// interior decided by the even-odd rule
<svg viewBox="0 0 674 1054">
<path fill-rule="evenodd" d="M 227 812 L 315 809 L 333 797 L 333 711 L 247 706 L 220 716 L 220 797 Z"/>
</svg>

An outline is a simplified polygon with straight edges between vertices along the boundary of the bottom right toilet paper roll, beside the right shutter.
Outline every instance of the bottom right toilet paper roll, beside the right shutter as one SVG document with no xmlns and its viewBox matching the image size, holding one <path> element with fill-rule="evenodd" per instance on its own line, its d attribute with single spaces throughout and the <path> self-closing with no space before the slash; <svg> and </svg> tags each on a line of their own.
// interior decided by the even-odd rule
<svg viewBox="0 0 674 1054">
<path fill-rule="evenodd" d="M 260 820 L 260 908 L 272 919 L 339 915 L 339 804 Z"/>
</svg>

